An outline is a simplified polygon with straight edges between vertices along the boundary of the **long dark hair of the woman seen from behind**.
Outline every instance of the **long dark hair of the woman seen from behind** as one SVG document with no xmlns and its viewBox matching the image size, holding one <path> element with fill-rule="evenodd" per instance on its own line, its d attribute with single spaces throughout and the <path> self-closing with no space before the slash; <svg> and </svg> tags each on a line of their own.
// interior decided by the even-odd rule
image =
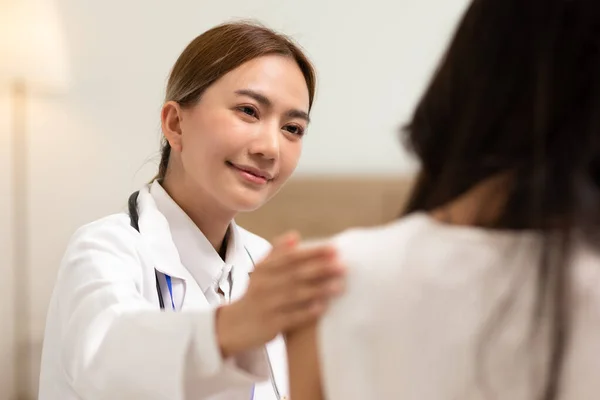
<svg viewBox="0 0 600 400">
<path fill-rule="evenodd" d="M 486 227 L 543 237 L 532 321 L 549 315 L 550 348 L 537 398 L 557 399 L 573 233 L 600 248 L 600 1 L 474 0 L 405 140 L 422 163 L 406 213 L 510 173 Z"/>
</svg>

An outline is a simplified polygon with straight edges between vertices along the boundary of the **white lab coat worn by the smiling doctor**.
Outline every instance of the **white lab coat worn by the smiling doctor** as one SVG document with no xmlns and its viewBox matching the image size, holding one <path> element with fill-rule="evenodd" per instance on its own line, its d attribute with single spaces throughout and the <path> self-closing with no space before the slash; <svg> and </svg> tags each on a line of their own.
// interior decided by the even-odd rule
<svg viewBox="0 0 600 400">
<path fill-rule="evenodd" d="M 138 209 L 140 233 L 122 213 L 73 236 L 48 309 L 39 399 L 250 400 L 256 381 L 255 400 L 276 399 L 264 348 L 231 360 L 220 356 L 214 307 L 181 264 L 149 188 L 140 191 Z M 242 244 L 232 269 L 235 300 L 252 268 L 246 249 L 260 260 L 269 245 L 233 228 Z M 155 268 L 179 283 L 178 312 L 159 312 Z M 286 395 L 283 340 L 267 351 Z"/>
</svg>

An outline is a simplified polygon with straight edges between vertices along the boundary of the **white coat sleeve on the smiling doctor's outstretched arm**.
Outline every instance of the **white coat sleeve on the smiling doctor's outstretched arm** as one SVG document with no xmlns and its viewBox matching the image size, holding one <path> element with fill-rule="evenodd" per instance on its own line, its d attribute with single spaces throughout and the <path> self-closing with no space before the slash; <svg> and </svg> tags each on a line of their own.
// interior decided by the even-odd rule
<svg viewBox="0 0 600 400">
<path fill-rule="evenodd" d="M 136 236 L 115 231 L 78 232 L 55 288 L 61 365 L 79 397 L 179 400 L 188 385 L 205 397 L 266 377 L 224 365 L 215 310 L 163 313 L 146 300 L 154 282 L 144 282 Z"/>
</svg>

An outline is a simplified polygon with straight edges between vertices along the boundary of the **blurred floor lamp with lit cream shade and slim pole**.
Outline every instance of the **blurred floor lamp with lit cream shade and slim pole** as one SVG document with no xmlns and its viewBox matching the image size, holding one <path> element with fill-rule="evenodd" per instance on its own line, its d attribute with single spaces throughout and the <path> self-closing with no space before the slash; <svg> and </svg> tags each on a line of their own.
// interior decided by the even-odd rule
<svg viewBox="0 0 600 400">
<path fill-rule="evenodd" d="M 13 304 L 15 344 L 30 335 L 29 277 L 31 201 L 29 188 L 29 135 L 27 111 L 31 96 L 65 90 L 67 83 L 64 37 L 53 0 L 0 0 L 0 90 L 10 96 Z M 28 343 L 14 352 L 14 390 L 17 399 L 30 389 L 31 359 Z"/>
</svg>

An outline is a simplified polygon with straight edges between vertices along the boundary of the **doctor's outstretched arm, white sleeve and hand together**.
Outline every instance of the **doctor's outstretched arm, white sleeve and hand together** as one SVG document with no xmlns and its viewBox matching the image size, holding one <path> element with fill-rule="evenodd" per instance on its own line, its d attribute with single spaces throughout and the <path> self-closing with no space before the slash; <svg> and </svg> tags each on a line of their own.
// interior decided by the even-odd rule
<svg viewBox="0 0 600 400">
<path fill-rule="evenodd" d="M 218 313 L 165 313 L 142 295 L 154 281 L 144 282 L 138 246 L 133 230 L 86 227 L 63 259 L 55 287 L 61 365 L 87 400 L 202 398 L 266 380 L 261 346 L 320 315 L 322 302 L 297 304 L 331 296 L 331 279 L 341 273 L 331 249 L 280 246 L 257 265 L 237 302 Z M 254 374 L 224 362 L 247 352 L 257 354 Z"/>
</svg>

